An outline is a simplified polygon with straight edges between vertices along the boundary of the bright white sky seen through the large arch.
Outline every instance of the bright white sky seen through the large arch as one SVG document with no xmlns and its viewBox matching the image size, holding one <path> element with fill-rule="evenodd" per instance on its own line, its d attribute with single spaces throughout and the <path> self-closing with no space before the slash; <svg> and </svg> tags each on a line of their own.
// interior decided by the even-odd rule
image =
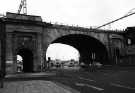
<svg viewBox="0 0 135 93">
<path fill-rule="evenodd" d="M 72 46 L 54 43 L 50 44 L 50 46 L 47 49 L 46 59 L 48 57 L 51 57 L 51 60 L 60 59 L 65 61 L 74 59 L 76 61 L 79 61 L 80 54 L 78 50 Z"/>
</svg>

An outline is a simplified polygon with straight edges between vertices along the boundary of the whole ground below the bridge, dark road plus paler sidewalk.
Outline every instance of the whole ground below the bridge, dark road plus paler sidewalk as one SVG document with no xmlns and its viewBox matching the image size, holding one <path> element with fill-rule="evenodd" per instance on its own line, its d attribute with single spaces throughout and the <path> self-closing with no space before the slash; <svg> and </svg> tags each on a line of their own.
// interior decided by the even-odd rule
<svg viewBox="0 0 135 93">
<path fill-rule="evenodd" d="M 134 67 L 8 74 L 0 93 L 135 93 Z"/>
</svg>

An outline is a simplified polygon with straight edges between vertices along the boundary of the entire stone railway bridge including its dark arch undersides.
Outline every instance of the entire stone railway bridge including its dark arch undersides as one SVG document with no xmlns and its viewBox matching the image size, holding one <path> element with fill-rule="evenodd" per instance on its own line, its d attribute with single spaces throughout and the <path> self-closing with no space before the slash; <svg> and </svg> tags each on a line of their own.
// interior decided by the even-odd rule
<svg viewBox="0 0 135 93">
<path fill-rule="evenodd" d="M 17 72 L 17 57 L 23 57 L 23 71 L 41 71 L 46 65 L 46 50 L 52 43 L 75 47 L 80 53 L 80 62 L 89 64 L 91 55 L 103 65 L 119 64 L 120 56 L 126 54 L 126 39 L 123 31 L 101 30 L 51 24 L 40 16 L 7 13 L 2 17 L 1 32 L 5 32 L 5 60 L 2 64 L 7 73 Z M 3 35 L 4 36 L 4 35 Z M 2 49 L 1 49 L 2 51 Z M 1 66 L 1 67 L 3 67 Z"/>
</svg>

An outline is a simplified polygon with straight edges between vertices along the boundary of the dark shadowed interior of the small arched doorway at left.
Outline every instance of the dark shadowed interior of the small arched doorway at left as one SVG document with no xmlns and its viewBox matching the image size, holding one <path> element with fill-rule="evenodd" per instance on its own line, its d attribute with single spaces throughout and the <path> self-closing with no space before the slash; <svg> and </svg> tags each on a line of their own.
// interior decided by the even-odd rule
<svg viewBox="0 0 135 93">
<path fill-rule="evenodd" d="M 27 48 L 21 48 L 17 55 L 22 57 L 22 72 L 33 72 L 33 53 Z"/>
</svg>

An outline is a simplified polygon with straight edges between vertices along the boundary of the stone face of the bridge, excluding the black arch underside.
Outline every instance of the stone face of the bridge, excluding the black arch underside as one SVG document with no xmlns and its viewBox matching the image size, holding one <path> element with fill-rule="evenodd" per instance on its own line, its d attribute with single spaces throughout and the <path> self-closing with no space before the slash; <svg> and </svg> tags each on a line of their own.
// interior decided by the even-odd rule
<svg viewBox="0 0 135 93">
<path fill-rule="evenodd" d="M 23 51 L 24 57 L 31 56 L 32 68 L 24 72 L 42 71 L 46 67 L 46 50 L 54 40 L 68 34 L 85 34 L 98 39 L 105 46 L 108 53 L 108 61 L 110 65 L 132 65 L 135 52 L 134 44 L 127 44 L 130 33 L 126 31 L 111 31 L 92 28 L 73 27 L 66 25 L 51 24 L 42 21 L 40 16 L 22 15 L 7 13 L 6 17 L 0 18 L 1 33 L 5 31 L 5 58 L 1 58 L 1 63 L 5 63 L 4 68 L 6 73 L 17 72 L 17 58 L 16 55 Z M 2 36 L 5 36 L 3 34 Z M 26 51 L 28 50 L 28 51 Z M 128 52 L 127 52 L 128 51 Z M 26 53 L 25 53 L 26 52 Z M 3 67 L 2 66 L 2 67 Z M 26 65 L 27 66 L 27 65 Z M 27 67 L 26 67 L 27 68 Z"/>
</svg>

